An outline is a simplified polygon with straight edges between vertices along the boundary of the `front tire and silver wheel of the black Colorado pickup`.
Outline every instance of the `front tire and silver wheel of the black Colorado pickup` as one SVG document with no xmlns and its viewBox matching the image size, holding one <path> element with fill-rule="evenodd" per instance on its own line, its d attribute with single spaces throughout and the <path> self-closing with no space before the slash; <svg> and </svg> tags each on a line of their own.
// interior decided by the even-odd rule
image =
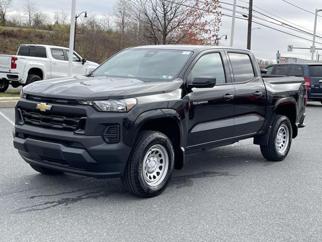
<svg viewBox="0 0 322 242">
<path fill-rule="evenodd" d="M 157 196 L 168 186 L 174 168 L 174 157 L 172 143 L 165 134 L 142 131 L 132 148 L 121 178 L 122 183 L 136 196 Z"/>
</svg>

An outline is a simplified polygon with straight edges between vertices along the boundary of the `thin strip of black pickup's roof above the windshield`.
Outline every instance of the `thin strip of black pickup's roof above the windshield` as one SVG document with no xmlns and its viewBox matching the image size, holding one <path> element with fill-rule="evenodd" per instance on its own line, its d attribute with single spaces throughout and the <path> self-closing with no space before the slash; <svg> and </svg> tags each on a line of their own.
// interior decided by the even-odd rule
<svg viewBox="0 0 322 242">
<path fill-rule="evenodd" d="M 227 46 L 216 45 L 197 45 L 197 44 L 157 44 L 157 45 L 141 45 L 131 47 L 132 49 L 177 49 L 177 50 L 205 50 L 205 49 L 237 49 Z"/>
</svg>

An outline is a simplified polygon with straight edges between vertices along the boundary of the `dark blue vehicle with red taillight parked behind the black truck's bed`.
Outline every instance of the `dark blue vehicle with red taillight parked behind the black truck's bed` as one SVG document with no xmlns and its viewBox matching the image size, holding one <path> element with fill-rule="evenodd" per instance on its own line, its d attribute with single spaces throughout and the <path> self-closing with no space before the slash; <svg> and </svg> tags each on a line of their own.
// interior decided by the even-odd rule
<svg viewBox="0 0 322 242">
<path fill-rule="evenodd" d="M 322 64 L 283 63 L 266 69 L 272 75 L 304 77 L 308 100 L 322 103 Z"/>
</svg>

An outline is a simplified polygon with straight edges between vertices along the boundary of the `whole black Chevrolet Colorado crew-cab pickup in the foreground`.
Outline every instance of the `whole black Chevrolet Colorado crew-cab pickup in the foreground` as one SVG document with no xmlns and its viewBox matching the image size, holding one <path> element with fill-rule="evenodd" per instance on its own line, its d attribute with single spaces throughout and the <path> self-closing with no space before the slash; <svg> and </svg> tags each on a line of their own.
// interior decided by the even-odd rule
<svg viewBox="0 0 322 242">
<path fill-rule="evenodd" d="M 301 77 L 263 78 L 248 50 L 133 47 L 88 76 L 24 87 L 14 146 L 38 172 L 121 177 L 152 197 L 186 154 L 253 138 L 283 160 L 305 126 L 306 93 Z"/>
</svg>

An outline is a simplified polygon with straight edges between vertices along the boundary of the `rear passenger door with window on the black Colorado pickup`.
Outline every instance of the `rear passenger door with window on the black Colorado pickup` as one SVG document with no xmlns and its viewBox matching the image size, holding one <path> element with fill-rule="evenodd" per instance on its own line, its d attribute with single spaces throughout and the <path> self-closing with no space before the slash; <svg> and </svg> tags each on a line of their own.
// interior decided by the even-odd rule
<svg viewBox="0 0 322 242">
<path fill-rule="evenodd" d="M 248 51 L 227 52 L 235 87 L 234 137 L 247 137 L 257 133 L 264 124 L 266 89 L 256 59 Z"/>
</svg>

